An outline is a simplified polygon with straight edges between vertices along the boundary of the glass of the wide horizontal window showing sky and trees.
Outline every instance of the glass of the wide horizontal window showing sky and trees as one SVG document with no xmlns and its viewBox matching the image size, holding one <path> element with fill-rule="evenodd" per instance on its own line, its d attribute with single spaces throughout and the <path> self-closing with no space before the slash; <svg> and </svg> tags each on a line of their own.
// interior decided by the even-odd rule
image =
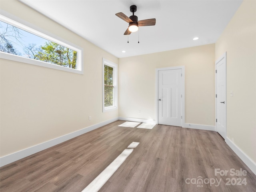
<svg viewBox="0 0 256 192">
<path fill-rule="evenodd" d="M 77 52 L 0 21 L 0 51 L 77 69 Z"/>
</svg>

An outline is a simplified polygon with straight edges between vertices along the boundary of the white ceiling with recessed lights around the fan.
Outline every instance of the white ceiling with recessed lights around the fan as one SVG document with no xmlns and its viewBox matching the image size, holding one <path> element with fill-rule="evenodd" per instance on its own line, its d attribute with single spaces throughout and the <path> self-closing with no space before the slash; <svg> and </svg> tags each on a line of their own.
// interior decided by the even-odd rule
<svg viewBox="0 0 256 192">
<path fill-rule="evenodd" d="M 215 43 L 242 0 L 20 0 L 118 58 Z M 138 20 L 155 26 L 123 35 L 137 6 Z M 138 43 L 138 34 L 139 41 Z M 198 40 L 192 40 L 194 37 Z M 125 53 L 122 51 L 125 50 Z"/>
</svg>

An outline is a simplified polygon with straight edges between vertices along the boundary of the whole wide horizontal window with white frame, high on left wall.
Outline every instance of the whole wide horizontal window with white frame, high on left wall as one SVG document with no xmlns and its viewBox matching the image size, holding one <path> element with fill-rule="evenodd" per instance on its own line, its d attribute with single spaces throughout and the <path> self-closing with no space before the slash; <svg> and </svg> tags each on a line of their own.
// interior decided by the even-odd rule
<svg viewBox="0 0 256 192">
<path fill-rule="evenodd" d="M 0 52 L 1 58 L 82 74 L 80 49 L 4 16 L 0 16 Z"/>
</svg>

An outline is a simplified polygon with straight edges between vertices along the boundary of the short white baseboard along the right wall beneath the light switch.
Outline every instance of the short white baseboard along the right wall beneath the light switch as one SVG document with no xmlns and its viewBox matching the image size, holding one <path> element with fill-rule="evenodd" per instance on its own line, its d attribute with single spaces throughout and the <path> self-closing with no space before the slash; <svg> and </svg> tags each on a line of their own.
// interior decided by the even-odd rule
<svg viewBox="0 0 256 192">
<path fill-rule="evenodd" d="M 250 157 L 248 157 L 238 146 L 236 146 L 236 144 L 234 144 L 228 137 L 226 137 L 225 142 L 256 175 L 256 163 Z"/>
</svg>

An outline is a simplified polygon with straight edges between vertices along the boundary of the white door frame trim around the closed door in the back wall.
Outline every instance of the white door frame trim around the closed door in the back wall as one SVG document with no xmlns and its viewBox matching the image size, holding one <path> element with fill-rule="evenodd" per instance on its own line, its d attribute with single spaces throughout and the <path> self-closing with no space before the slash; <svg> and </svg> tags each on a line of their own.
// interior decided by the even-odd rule
<svg viewBox="0 0 256 192">
<path fill-rule="evenodd" d="M 182 114 L 182 123 L 181 126 L 185 127 L 185 66 L 176 66 L 176 67 L 165 67 L 165 68 L 156 68 L 156 91 L 155 91 L 155 109 L 156 109 L 156 124 L 158 124 L 158 72 L 163 70 L 174 70 L 181 69 L 182 78 L 181 78 L 181 114 Z"/>
</svg>

